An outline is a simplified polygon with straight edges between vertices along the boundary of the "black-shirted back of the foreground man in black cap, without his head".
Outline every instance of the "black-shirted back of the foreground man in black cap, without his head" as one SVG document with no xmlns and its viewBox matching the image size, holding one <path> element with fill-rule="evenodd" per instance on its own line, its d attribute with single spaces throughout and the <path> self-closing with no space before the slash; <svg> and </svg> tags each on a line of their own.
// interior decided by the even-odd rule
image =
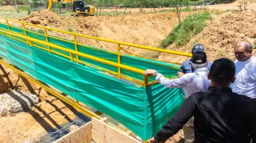
<svg viewBox="0 0 256 143">
<path fill-rule="evenodd" d="M 233 93 L 230 88 L 212 86 L 207 92 L 194 95 L 192 98 L 195 98 L 193 101 L 197 106 L 194 114 L 196 142 L 250 141 L 248 134 L 252 129 L 249 128 L 256 124 L 256 108 L 248 106 L 254 105 L 251 98 Z"/>
</svg>

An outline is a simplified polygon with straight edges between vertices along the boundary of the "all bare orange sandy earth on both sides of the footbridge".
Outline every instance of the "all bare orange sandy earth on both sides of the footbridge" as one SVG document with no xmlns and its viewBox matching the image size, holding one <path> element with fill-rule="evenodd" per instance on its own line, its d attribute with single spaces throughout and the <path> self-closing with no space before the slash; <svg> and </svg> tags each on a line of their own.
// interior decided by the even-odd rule
<svg viewBox="0 0 256 143">
<path fill-rule="evenodd" d="M 11 9 L 11 7 L 8 8 Z M 238 9 L 237 3 L 211 5 L 207 6 L 207 8 L 220 10 Z M 190 52 L 192 43 L 196 41 L 206 46 L 209 60 L 212 61 L 220 57 L 228 57 L 234 60 L 232 48 L 235 42 L 243 39 L 254 42 L 256 38 L 256 12 L 253 10 L 255 9 L 254 5 L 250 5 L 248 9 L 244 12 L 228 12 L 214 16 L 212 20 L 208 21 L 208 26 L 198 35 L 194 36 L 186 45 L 181 47 L 170 45 L 168 49 Z M 150 9 L 144 10 L 150 12 Z M 129 11 L 126 10 L 126 12 Z M 157 47 L 159 41 L 166 38 L 173 26 L 178 23 L 175 13 L 141 14 L 138 12 L 138 9 L 131 9 L 131 13 L 120 16 L 63 18 L 57 14 L 42 11 L 40 13 L 35 12 L 20 20 L 26 22 L 35 20 L 39 21 L 40 25 L 52 28 L 152 47 Z M 188 14 L 190 13 L 184 12 L 182 17 Z M 34 30 L 38 29 L 34 28 Z M 49 31 L 49 34 L 67 39 L 73 38 L 52 31 Z M 116 50 L 117 46 L 81 37 L 78 38 L 78 41 L 108 50 Z M 126 51 L 158 58 L 158 53 L 150 53 L 145 50 L 135 50 L 134 48 L 127 47 Z M 168 54 L 161 54 L 159 59 L 172 62 L 182 62 L 185 60 L 185 58 Z M 20 89 L 38 95 L 41 100 L 29 112 L 15 115 L 8 114 L 7 116 L 0 117 L 0 142 L 22 142 L 44 134 L 49 129 L 59 128 L 59 125 L 69 122 L 75 117 L 75 110 L 72 107 L 49 95 L 39 86 L 19 77 L 11 69 L 2 66 L 0 74 L 0 93 L 8 92 L 12 89 Z M 177 133 L 167 142 L 184 142 L 181 132 Z"/>
</svg>

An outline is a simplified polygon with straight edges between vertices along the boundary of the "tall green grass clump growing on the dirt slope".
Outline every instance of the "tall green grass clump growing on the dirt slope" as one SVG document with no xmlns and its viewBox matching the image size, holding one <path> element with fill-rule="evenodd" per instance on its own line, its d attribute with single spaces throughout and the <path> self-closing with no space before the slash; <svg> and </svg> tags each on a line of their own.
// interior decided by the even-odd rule
<svg viewBox="0 0 256 143">
<path fill-rule="evenodd" d="M 187 16 L 173 28 L 166 39 L 160 42 L 159 47 L 166 48 L 175 43 L 176 46 L 186 44 L 194 35 L 202 31 L 206 26 L 206 20 L 211 19 L 211 13 L 205 11 Z"/>
</svg>

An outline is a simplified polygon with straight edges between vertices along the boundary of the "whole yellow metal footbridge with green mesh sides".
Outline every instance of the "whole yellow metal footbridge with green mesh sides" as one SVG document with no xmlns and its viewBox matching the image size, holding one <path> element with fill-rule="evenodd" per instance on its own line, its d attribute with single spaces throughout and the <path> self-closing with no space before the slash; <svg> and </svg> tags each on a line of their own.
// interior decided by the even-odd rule
<svg viewBox="0 0 256 143">
<path fill-rule="evenodd" d="M 52 36 L 49 31 L 73 39 Z M 78 37 L 112 43 L 117 51 L 82 44 Z M 124 54 L 124 47 L 192 56 L 0 18 L 1 64 L 87 116 L 100 119 L 104 113 L 146 141 L 176 113 L 184 96 L 181 89 L 165 88 L 144 76 L 144 70 L 156 69 L 177 78 L 179 66 Z"/>
</svg>

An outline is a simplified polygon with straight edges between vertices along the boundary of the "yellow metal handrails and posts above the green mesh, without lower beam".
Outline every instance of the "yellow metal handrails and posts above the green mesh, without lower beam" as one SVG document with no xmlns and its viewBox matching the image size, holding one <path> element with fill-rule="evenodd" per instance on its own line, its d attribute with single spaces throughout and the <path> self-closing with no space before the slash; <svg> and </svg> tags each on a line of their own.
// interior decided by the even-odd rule
<svg viewBox="0 0 256 143">
<path fill-rule="evenodd" d="M 22 21 L 17 21 L 17 20 L 12 20 L 12 19 L 8 19 L 8 18 L 1 18 L 0 17 L 0 20 L 1 19 L 3 19 L 5 21 L 5 24 L 8 27 L 8 30 L 0 30 L 2 32 L 2 34 L 5 35 L 5 36 L 9 36 L 10 38 L 14 38 L 14 39 L 16 39 L 18 41 L 27 43 L 30 46 L 34 46 L 34 47 L 40 48 L 42 50 L 46 50 L 46 49 L 43 48 L 43 47 L 40 47 L 39 45 L 33 44 L 33 42 L 45 45 L 45 46 L 47 46 L 47 51 L 49 53 L 55 53 L 55 54 L 58 54 L 58 55 L 61 55 L 61 56 L 65 57 L 65 58 L 69 58 L 71 61 L 75 61 L 77 63 L 82 63 L 82 64 L 85 64 L 85 65 L 96 67 L 98 69 L 102 69 L 102 70 L 104 70 L 106 72 L 109 72 L 110 74 L 118 76 L 119 80 L 122 77 L 122 78 L 125 78 L 127 80 L 130 80 L 130 81 L 136 82 L 138 84 L 141 84 L 143 86 L 147 86 L 147 85 L 150 85 L 150 84 L 155 84 L 155 82 L 148 82 L 147 77 L 144 77 L 144 81 L 141 81 L 141 80 L 137 80 L 137 79 L 134 79 L 132 77 L 129 77 L 129 76 L 121 74 L 121 69 L 126 69 L 126 70 L 129 70 L 131 72 L 142 74 L 142 75 L 144 74 L 144 70 L 142 70 L 142 69 L 134 68 L 134 67 L 131 67 L 131 66 L 126 66 L 126 65 L 121 64 L 121 58 L 120 57 L 123 56 L 123 54 L 120 51 L 121 50 L 121 45 L 122 46 L 135 47 L 135 48 L 141 48 L 141 49 L 147 49 L 147 50 L 152 50 L 152 51 L 158 51 L 158 52 L 165 52 L 165 53 L 176 54 L 176 55 L 182 55 L 182 56 L 187 56 L 187 57 L 191 57 L 192 56 L 192 54 L 190 54 L 190 53 L 183 53 L 183 52 L 178 52 L 178 51 L 165 50 L 165 49 L 159 49 L 159 48 L 154 48 L 154 47 L 147 47 L 147 46 L 141 46 L 141 45 L 130 44 L 130 43 L 125 43 L 125 42 L 119 42 L 119 41 L 114 41 L 114 40 L 109 40 L 109 39 L 104 39 L 104 38 L 98 38 L 98 37 L 93 37 L 93 36 L 88 36 L 88 35 L 83 35 L 83 34 L 63 31 L 63 30 L 58 30 L 58 29 L 49 28 L 49 27 L 45 27 L 45 26 L 33 25 L 31 23 L 26 23 L 26 22 L 22 22 Z M 16 23 L 21 23 L 22 24 L 22 28 L 10 25 L 9 21 L 16 22 Z M 0 22 L 0 23 L 2 23 L 2 22 Z M 33 26 L 33 27 L 41 28 L 41 29 L 44 30 L 44 34 L 38 33 L 38 32 L 32 31 L 32 30 L 28 30 L 28 29 L 26 29 L 25 26 Z M 10 27 L 15 27 L 17 29 L 23 30 L 24 31 L 24 35 L 19 34 L 19 33 L 14 33 L 13 31 L 10 30 Z M 69 40 L 66 40 L 66 39 L 50 36 L 50 35 L 48 35 L 48 31 L 49 30 L 73 35 L 73 41 L 69 41 Z M 27 32 L 31 32 L 31 33 L 35 33 L 35 34 L 38 34 L 38 35 L 45 36 L 46 42 L 45 41 L 40 41 L 38 39 L 35 39 L 35 38 L 27 36 Z M 22 41 L 21 39 L 16 38 L 14 36 L 26 39 L 26 41 Z M 112 53 L 112 54 L 116 54 L 118 62 L 117 63 L 111 62 L 111 61 L 108 61 L 108 60 L 104 60 L 104 59 L 101 59 L 101 58 L 94 57 L 92 55 L 88 55 L 88 54 L 79 52 L 77 46 L 78 45 L 84 46 L 84 45 L 77 42 L 77 36 L 117 44 L 117 52 L 113 52 L 113 51 L 107 51 L 107 52 Z M 49 37 L 50 38 L 54 38 L 54 39 L 58 39 L 60 41 L 72 43 L 75 46 L 75 50 L 70 50 L 70 49 L 67 49 L 67 48 L 64 48 L 64 47 L 61 47 L 61 46 L 58 46 L 58 45 L 51 44 L 51 43 L 49 43 L 49 40 L 48 40 Z M 53 50 L 50 49 L 50 47 L 53 47 L 53 48 L 56 48 L 56 49 L 68 52 L 68 53 L 70 53 L 70 55 L 67 56 L 67 55 L 62 54 L 60 52 L 53 51 Z M 88 48 L 90 48 L 90 47 L 88 47 Z M 102 50 L 102 51 L 105 51 L 105 50 Z M 74 58 L 74 55 L 76 55 L 76 58 Z M 98 67 L 98 66 L 86 63 L 84 61 L 81 61 L 81 60 L 79 60 L 79 56 L 88 58 L 90 60 L 98 61 L 98 62 L 107 64 L 107 65 L 115 66 L 115 67 L 118 68 L 118 72 L 116 73 L 116 72 L 113 72 L 111 70 L 104 69 L 104 68 L 101 68 L 101 67 Z M 174 68 L 174 69 L 179 69 L 179 68 L 171 67 L 171 66 L 168 66 L 168 67 Z"/>
</svg>

